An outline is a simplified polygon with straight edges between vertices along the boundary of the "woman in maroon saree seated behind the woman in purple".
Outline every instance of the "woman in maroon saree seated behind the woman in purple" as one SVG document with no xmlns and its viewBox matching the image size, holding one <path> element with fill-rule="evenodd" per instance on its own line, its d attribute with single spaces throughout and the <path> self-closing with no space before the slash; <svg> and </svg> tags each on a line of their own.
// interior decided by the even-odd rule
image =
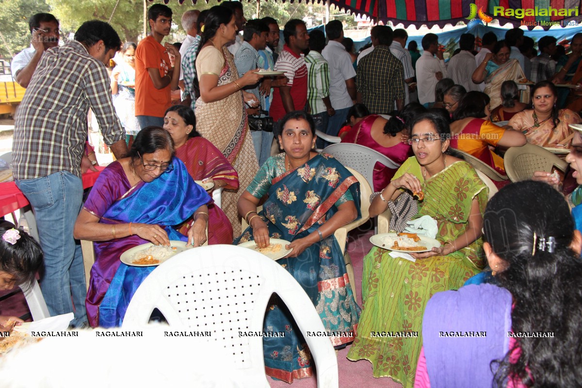
<svg viewBox="0 0 582 388">
<path fill-rule="evenodd" d="M 176 158 L 186 165 L 194 180 L 210 183 L 209 192 L 223 187 L 239 188 L 239 175 L 214 144 L 196 130 L 196 117 L 190 106 L 174 105 L 164 117 L 164 129 L 170 133 Z M 184 229 L 179 232 L 185 233 Z M 226 214 L 215 204 L 208 205 L 208 244 L 232 244 L 232 225 Z"/>
</svg>

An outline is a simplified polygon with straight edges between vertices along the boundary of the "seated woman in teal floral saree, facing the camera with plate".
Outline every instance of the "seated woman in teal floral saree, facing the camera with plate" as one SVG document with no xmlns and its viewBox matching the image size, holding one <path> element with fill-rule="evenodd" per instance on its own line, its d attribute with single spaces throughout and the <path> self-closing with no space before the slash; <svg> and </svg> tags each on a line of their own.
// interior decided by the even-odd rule
<svg viewBox="0 0 582 388">
<path fill-rule="evenodd" d="M 282 154 L 271 156 L 239 199 L 240 215 L 249 223 L 240 244 L 254 240 L 258 247 L 269 239 L 284 239 L 292 248 L 281 264 L 301 284 L 321 316 L 334 346 L 353 341 L 360 309 L 338 241 L 333 233 L 360 217 L 356 177 L 333 156 L 311 151 L 315 125 L 303 111 L 289 112 L 279 126 Z M 260 213 L 257 205 L 268 199 Z M 293 382 L 313 375 L 313 361 L 293 317 L 274 298 L 269 302 L 265 332 L 285 332 L 285 337 L 263 338 L 265 369 L 269 376 Z"/>
</svg>

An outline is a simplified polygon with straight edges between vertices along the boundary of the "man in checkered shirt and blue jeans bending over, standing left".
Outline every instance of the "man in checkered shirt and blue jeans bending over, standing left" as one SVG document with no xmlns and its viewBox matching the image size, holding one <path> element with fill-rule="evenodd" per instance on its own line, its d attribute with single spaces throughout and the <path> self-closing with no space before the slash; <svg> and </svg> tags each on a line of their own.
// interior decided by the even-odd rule
<svg viewBox="0 0 582 388">
<path fill-rule="evenodd" d="M 48 49 L 38 63 L 16 115 L 12 164 L 16 185 L 36 215 L 48 311 L 66 314 L 74 304 L 71 325 L 79 327 L 87 322 L 86 285 L 73 227 L 83 200 L 81 173 L 91 166 L 83 152 L 89 108 L 117 158 L 127 154 L 127 146 L 105 67 L 119 50 L 119 35 L 93 20 L 83 23 L 74 38 Z"/>
</svg>

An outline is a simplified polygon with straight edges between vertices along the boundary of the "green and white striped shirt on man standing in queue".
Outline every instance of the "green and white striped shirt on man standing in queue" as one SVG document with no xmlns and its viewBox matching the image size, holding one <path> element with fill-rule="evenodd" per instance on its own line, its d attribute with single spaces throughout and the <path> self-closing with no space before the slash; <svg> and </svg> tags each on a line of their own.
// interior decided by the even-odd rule
<svg viewBox="0 0 582 388">
<path fill-rule="evenodd" d="M 329 96 L 329 65 L 317 51 L 311 50 L 305 57 L 307 65 L 307 102 L 311 114 L 326 112 L 322 98 Z"/>
</svg>

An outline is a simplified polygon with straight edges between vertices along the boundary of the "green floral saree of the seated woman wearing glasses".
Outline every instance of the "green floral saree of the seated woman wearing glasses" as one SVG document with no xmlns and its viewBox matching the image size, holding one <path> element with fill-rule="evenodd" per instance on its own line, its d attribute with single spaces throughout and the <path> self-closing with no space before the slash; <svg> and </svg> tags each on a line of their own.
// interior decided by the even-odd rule
<svg viewBox="0 0 582 388">
<path fill-rule="evenodd" d="M 453 162 L 426 183 L 416 158 L 407 159 L 394 179 L 406 172 L 424 185 L 424 201 L 418 202 L 414 218 L 429 215 L 437 220 L 436 239 L 441 244 L 467 230 L 473 200 L 477 200 L 481 214 L 485 211 L 488 189 L 467 162 Z M 450 255 L 416 262 L 392 258 L 389 252 L 374 247 L 364 257 L 364 307 L 347 358 L 367 359 L 372 363 L 374 377 L 391 377 L 408 388 L 414 385 L 428 300 L 439 291 L 463 286 L 465 280 L 481 271 L 485 257 L 482 239 Z"/>
</svg>

